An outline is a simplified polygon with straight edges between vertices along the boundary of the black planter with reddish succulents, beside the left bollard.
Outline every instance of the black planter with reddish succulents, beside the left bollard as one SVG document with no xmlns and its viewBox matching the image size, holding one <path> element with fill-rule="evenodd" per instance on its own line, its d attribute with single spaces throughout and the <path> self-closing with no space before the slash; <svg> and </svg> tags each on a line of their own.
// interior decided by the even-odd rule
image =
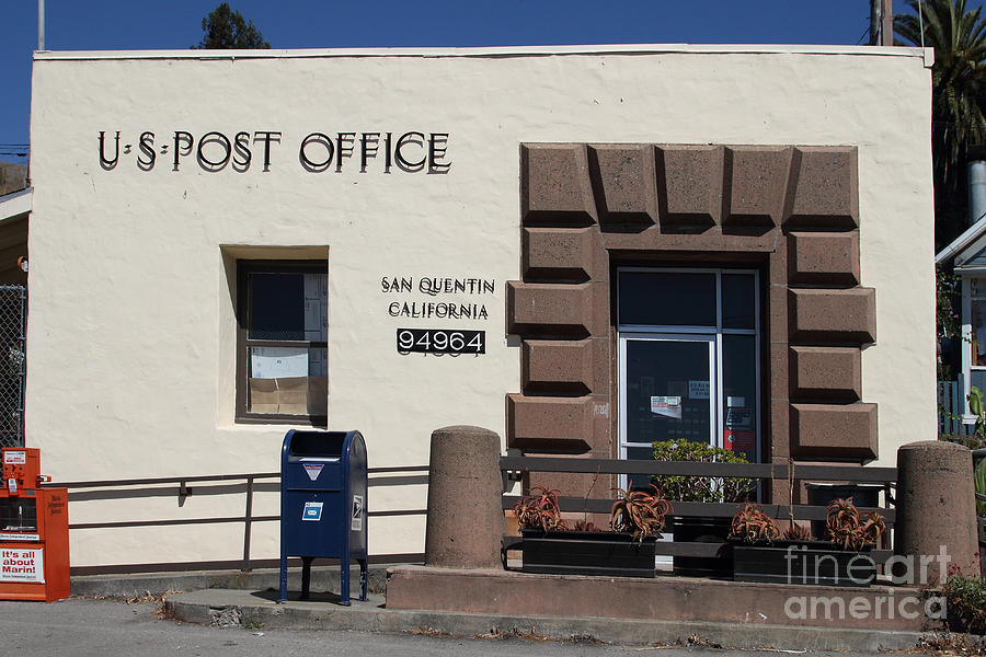
<svg viewBox="0 0 986 657">
<path fill-rule="evenodd" d="M 514 507 L 524 537 L 525 573 L 555 575 L 654 576 L 654 544 L 670 504 L 654 486 L 616 488 L 610 510 L 612 531 L 578 521 L 569 530 L 558 506 L 558 491 L 535 486 Z"/>
</svg>

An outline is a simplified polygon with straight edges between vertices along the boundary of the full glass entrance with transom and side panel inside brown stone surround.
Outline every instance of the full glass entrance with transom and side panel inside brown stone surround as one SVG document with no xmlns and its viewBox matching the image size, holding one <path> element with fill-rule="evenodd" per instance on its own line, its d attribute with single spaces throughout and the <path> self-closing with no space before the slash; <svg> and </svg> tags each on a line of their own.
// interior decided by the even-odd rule
<svg viewBox="0 0 986 657">
<path fill-rule="evenodd" d="M 759 461 L 758 281 L 742 269 L 618 270 L 620 458 L 680 439 Z"/>
</svg>

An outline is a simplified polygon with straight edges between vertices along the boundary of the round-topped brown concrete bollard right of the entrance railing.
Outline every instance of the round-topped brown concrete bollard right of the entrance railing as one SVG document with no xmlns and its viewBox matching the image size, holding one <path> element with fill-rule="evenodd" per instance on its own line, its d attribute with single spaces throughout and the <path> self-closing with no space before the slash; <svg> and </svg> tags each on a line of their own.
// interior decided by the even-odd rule
<svg viewBox="0 0 986 657">
<path fill-rule="evenodd" d="M 896 503 L 893 570 L 898 578 L 909 568 L 915 585 L 942 584 L 943 555 L 965 575 L 978 575 L 968 448 L 940 440 L 903 446 L 897 450 Z"/>
</svg>

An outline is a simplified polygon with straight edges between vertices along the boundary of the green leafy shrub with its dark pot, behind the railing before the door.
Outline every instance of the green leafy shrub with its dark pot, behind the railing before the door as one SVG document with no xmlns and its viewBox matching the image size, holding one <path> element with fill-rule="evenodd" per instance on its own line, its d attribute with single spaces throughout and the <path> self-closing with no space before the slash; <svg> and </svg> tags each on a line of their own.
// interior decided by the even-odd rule
<svg viewBox="0 0 986 657">
<path fill-rule="evenodd" d="M 712 447 L 707 442 L 664 440 L 652 445 L 655 461 L 692 461 L 701 463 L 747 463 L 746 458 L 732 450 Z M 664 491 L 672 502 L 707 504 L 742 503 L 756 489 L 756 480 L 748 477 L 684 476 L 657 474 L 652 483 Z M 669 518 L 674 540 L 688 543 L 720 543 L 716 556 L 675 556 L 675 575 L 692 577 L 730 577 L 732 564 L 727 538 L 730 518 L 715 516 L 673 516 Z"/>
</svg>

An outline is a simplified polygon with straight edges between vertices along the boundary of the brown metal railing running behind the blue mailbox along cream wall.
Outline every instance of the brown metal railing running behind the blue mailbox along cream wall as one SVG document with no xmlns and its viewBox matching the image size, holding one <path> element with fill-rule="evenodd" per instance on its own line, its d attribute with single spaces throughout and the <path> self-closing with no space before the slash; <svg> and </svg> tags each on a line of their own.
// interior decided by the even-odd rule
<svg viewBox="0 0 986 657">
<path fill-rule="evenodd" d="M 420 473 L 421 474 L 412 474 Z M 399 468 L 370 468 L 369 486 L 393 486 L 426 484 L 428 481 L 427 465 L 405 465 Z M 230 485 L 232 484 L 232 485 Z M 167 518 L 141 520 L 105 520 L 100 522 L 69 522 L 69 531 L 78 532 L 90 529 L 125 529 L 138 527 L 173 527 L 191 525 L 243 525 L 243 556 L 233 564 L 230 562 L 174 562 L 154 564 L 117 564 L 111 566 L 82 566 L 72 567 L 72 574 L 85 573 L 126 573 L 164 569 L 188 569 L 209 567 L 236 567 L 249 572 L 255 567 L 270 566 L 276 560 L 254 560 L 251 557 L 252 529 L 255 522 L 279 521 L 279 515 L 256 516 L 253 510 L 254 494 L 259 492 L 274 493 L 280 491 L 279 472 L 250 472 L 242 474 L 214 474 L 194 476 L 167 476 L 126 480 L 95 480 L 78 482 L 51 482 L 43 484 L 46 488 L 68 488 L 69 504 L 72 502 L 90 502 L 94 499 L 134 499 L 150 495 L 175 495 L 179 507 L 185 500 L 196 495 L 229 495 L 242 493 L 243 514 L 236 516 L 199 517 L 199 518 Z M 370 497 L 372 500 L 372 497 Z M 390 509 L 374 510 L 370 508 L 367 516 L 370 518 L 383 518 L 394 516 L 423 516 L 425 509 Z M 71 517 L 71 516 L 70 516 Z M 71 534 L 70 534 L 71 537 Z M 71 539 L 70 539 L 71 540 Z M 417 554 L 378 555 L 374 561 L 419 561 Z"/>
</svg>

